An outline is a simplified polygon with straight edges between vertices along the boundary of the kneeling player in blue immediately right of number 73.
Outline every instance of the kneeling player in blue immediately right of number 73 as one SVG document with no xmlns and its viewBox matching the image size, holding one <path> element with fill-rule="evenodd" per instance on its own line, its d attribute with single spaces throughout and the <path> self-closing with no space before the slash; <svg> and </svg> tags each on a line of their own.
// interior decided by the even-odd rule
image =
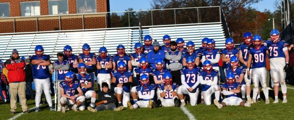
<svg viewBox="0 0 294 120">
<path fill-rule="evenodd" d="M 209 60 L 203 62 L 203 69 L 198 72 L 197 79 L 201 83 L 201 93 L 205 105 L 211 105 L 211 95 L 214 93 L 218 101 L 220 101 L 220 88 L 218 85 L 219 72 L 214 70 Z"/>
</svg>

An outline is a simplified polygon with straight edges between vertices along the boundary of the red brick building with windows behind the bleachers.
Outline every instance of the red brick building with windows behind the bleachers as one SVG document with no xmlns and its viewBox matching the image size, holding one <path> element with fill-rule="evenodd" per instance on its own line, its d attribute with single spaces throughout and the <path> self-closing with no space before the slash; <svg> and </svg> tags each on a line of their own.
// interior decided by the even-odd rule
<svg viewBox="0 0 294 120">
<path fill-rule="evenodd" d="M 109 26 L 109 0 L 0 0 L 0 33 Z"/>
</svg>

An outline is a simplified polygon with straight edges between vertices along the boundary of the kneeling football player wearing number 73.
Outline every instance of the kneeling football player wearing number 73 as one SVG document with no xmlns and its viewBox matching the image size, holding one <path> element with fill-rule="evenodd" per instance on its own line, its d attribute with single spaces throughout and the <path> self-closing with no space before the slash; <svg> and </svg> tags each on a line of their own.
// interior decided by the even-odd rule
<svg viewBox="0 0 294 120">
<path fill-rule="evenodd" d="M 193 57 L 188 57 L 186 60 L 187 68 L 181 70 L 181 82 L 182 85 L 179 86 L 177 94 L 181 100 L 181 106 L 185 106 L 185 100 L 183 94 L 190 96 L 190 103 L 192 106 L 197 105 L 197 98 L 199 94 L 199 84 L 200 81 L 197 78 L 198 72 L 200 72 L 199 67 L 195 67 L 195 62 Z"/>
</svg>

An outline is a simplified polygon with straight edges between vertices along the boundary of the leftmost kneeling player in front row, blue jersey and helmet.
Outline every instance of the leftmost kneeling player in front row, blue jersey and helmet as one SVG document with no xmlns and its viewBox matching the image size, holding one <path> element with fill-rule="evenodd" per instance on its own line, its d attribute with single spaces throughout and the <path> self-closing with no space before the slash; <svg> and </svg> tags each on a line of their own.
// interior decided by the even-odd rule
<svg viewBox="0 0 294 120">
<path fill-rule="evenodd" d="M 77 112 L 77 106 L 81 105 L 85 101 L 85 96 L 83 96 L 83 91 L 80 88 L 80 83 L 78 81 L 73 81 L 73 72 L 67 72 L 65 74 L 65 80 L 60 82 L 60 104 L 61 112 L 65 113 L 66 105 L 73 105 L 72 110 Z M 74 95 L 75 93 L 76 95 Z"/>
</svg>

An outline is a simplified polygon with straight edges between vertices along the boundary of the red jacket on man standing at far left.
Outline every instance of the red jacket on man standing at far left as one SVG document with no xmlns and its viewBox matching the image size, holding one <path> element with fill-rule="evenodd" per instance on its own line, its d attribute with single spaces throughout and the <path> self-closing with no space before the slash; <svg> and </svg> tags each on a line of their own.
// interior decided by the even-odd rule
<svg viewBox="0 0 294 120">
<path fill-rule="evenodd" d="M 16 61 L 14 60 L 7 60 L 5 62 L 6 69 L 8 70 L 8 79 L 9 83 L 12 82 L 24 82 L 25 81 L 25 61 L 19 58 Z"/>
</svg>

